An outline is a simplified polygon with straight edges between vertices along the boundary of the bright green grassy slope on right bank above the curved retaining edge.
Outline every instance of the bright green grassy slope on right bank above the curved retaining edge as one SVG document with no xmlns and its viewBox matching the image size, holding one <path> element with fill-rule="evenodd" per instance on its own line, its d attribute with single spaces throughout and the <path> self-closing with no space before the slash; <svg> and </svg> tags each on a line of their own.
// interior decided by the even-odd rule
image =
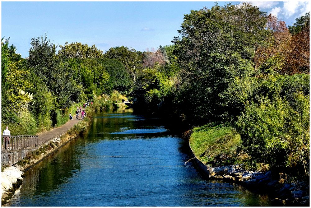
<svg viewBox="0 0 311 208">
<path fill-rule="evenodd" d="M 240 135 L 223 124 L 193 128 L 189 144 L 196 157 L 210 166 L 239 164 L 248 158 L 242 150 Z"/>
</svg>

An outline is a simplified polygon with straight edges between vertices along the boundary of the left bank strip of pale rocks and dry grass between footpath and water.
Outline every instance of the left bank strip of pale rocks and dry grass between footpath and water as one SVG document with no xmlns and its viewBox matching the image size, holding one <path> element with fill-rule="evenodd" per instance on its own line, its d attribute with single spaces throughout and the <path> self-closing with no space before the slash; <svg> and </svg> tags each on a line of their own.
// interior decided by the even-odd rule
<svg viewBox="0 0 311 208">
<path fill-rule="evenodd" d="M 7 203 L 7 201 L 12 197 L 15 190 L 22 183 L 23 174 L 34 167 L 36 164 L 47 158 L 49 155 L 56 152 L 59 148 L 77 138 L 83 132 L 86 132 L 88 127 L 92 122 L 92 115 L 94 109 L 90 106 L 86 109 L 87 117 L 84 120 L 80 120 L 77 124 L 74 124 L 66 133 L 61 136 L 56 136 L 53 141 L 49 141 L 46 145 L 40 147 L 27 154 L 26 158 L 20 160 L 13 166 L 6 168 L 2 171 L 2 192 L 1 192 L 1 202 L 2 205 Z M 69 121 L 70 122 L 70 121 Z"/>
</svg>

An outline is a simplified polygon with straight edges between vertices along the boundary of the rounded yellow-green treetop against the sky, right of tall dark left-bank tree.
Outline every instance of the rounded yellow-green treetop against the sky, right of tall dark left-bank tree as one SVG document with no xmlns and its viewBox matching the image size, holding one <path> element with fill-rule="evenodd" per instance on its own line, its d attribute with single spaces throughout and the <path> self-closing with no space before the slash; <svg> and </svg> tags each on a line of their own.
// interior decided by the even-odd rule
<svg viewBox="0 0 311 208">
<path fill-rule="evenodd" d="M 81 44 L 78 42 L 68 44 L 65 46 L 60 45 L 58 56 L 63 58 L 100 58 L 103 51 L 96 48 L 95 45 L 89 47 L 87 44 Z"/>
</svg>

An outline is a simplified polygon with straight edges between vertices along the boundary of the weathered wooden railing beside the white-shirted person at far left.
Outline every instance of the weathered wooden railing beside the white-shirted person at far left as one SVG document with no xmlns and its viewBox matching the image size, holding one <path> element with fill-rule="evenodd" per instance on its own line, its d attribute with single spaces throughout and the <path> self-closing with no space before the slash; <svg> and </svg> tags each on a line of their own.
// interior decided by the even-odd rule
<svg viewBox="0 0 311 208">
<path fill-rule="evenodd" d="M 11 166 L 26 157 L 28 152 L 38 149 L 38 136 L 3 136 L 1 142 L 2 166 Z"/>
</svg>

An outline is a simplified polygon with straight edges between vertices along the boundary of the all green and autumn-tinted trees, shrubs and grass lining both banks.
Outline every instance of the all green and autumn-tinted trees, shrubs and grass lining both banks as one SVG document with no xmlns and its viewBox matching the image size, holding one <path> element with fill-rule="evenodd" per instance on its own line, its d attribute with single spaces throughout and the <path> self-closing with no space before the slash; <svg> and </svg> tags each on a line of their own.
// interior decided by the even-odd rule
<svg viewBox="0 0 311 208">
<path fill-rule="evenodd" d="M 77 103 L 104 109 L 124 95 L 193 129 L 190 145 L 206 164 L 309 181 L 309 13 L 287 27 L 251 3 L 216 3 L 185 14 L 178 32 L 174 44 L 145 52 L 66 42 L 56 53 L 42 36 L 26 59 L 6 39 L 2 130 L 44 132 Z"/>
</svg>

